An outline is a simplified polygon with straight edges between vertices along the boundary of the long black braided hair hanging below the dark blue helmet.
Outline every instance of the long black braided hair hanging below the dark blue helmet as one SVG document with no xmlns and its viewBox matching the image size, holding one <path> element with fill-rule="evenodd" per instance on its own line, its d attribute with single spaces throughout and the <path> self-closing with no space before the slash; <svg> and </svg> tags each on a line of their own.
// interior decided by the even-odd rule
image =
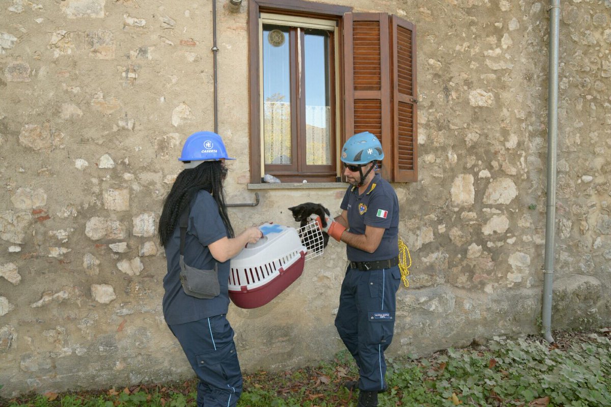
<svg viewBox="0 0 611 407">
<path fill-rule="evenodd" d="M 189 207 L 191 200 L 200 190 L 210 192 L 219 207 L 219 215 L 227 229 L 227 235 L 234 237 L 233 228 L 227 216 L 223 179 L 227 170 L 221 161 L 205 161 L 195 168 L 183 170 L 178 174 L 172 189 L 163 203 L 163 211 L 159 217 L 159 242 L 166 247 L 183 211 Z"/>
</svg>

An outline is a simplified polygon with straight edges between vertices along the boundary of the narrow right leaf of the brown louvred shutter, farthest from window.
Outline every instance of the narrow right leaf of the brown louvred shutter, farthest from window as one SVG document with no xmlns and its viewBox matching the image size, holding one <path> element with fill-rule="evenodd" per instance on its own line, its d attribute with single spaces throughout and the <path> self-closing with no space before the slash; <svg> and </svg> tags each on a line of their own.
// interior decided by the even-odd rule
<svg viewBox="0 0 611 407">
<path fill-rule="evenodd" d="M 390 16 L 393 181 L 418 181 L 415 27 Z"/>
</svg>

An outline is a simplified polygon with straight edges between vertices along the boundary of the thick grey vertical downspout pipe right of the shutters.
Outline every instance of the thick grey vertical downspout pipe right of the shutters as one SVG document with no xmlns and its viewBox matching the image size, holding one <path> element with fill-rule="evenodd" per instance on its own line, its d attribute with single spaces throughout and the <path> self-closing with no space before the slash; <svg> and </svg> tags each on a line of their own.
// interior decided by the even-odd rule
<svg viewBox="0 0 611 407">
<path fill-rule="evenodd" d="M 554 232 L 556 215 L 556 156 L 558 139 L 558 43 L 560 0 L 549 5 L 549 78 L 547 87 L 547 207 L 543 266 L 543 337 L 552 344 L 552 294 L 554 292 Z"/>
</svg>

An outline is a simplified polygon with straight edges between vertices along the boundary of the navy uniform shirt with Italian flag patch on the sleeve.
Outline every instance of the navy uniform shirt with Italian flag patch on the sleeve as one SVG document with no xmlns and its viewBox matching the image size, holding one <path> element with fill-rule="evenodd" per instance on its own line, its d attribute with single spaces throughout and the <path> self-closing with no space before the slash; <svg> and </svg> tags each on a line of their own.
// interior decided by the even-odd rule
<svg viewBox="0 0 611 407">
<path fill-rule="evenodd" d="M 386 179 L 376 174 L 361 195 L 358 187 L 350 185 L 340 207 L 348 211 L 351 233 L 365 234 L 365 226 L 386 229 L 373 253 L 346 245 L 349 261 L 387 260 L 398 256 L 399 201 L 397 193 Z"/>
</svg>

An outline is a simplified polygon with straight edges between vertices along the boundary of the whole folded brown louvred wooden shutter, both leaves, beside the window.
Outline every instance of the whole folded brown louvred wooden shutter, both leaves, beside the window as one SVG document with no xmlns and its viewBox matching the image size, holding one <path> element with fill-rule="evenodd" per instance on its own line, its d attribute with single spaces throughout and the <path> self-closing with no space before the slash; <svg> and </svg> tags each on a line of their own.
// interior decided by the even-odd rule
<svg viewBox="0 0 611 407">
<path fill-rule="evenodd" d="M 344 15 L 344 139 L 362 131 L 382 143 L 382 176 L 415 182 L 415 27 L 386 13 Z"/>
</svg>

